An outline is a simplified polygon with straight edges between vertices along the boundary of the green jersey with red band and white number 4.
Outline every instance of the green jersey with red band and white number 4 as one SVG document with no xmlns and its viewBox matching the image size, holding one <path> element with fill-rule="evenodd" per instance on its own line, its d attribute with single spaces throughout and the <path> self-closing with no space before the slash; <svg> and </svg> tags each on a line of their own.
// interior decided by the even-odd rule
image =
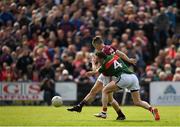
<svg viewBox="0 0 180 127">
<path fill-rule="evenodd" d="M 103 73 L 105 76 L 119 77 L 121 74 L 133 74 L 127 67 L 127 65 L 117 55 L 108 55 L 99 69 L 99 73 Z"/>
</svg>

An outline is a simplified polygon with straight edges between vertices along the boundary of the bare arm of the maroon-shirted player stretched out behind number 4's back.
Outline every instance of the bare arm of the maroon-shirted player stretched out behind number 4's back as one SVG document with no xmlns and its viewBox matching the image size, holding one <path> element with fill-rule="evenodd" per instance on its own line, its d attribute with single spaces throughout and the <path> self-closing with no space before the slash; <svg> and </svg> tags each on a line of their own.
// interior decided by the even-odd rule
<svg viewBox="0 0 180 127">
<path fill-rule="evenodd" d="M 136 59 L 134 59 L 134 58 L 129 58 L 125 53 L 123 53 L 123 52 L 121 52 L 121 51 L 119 51 L 119 50 L 116 51 L 116 54 L 117 54 L 119 57 L 121 57 L 123 60 L 125 60 L 125 61 L 127 61 L 127 62 L 129 62 L 129 63 L 131 63 L 131 64 L 133 64 L 133 65 L 135 65 L 136 62 L 137 62 Z"/>
</svg>

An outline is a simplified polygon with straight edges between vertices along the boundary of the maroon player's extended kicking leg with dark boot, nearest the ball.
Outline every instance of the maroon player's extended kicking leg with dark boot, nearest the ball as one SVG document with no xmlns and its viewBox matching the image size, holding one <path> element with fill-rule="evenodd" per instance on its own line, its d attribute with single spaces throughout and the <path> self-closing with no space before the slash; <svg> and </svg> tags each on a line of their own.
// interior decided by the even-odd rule
<svg viewBox="0 0 180 127">
<path fill-rule="evenodd" d="M 83 106 L 87 103 L 92 102 L 96 94 L 99 93 L 102 89 L 103 89 L 103 83 L 100 81 L 96 81 L 95 85 L 92 87 L 90 92 L 86 95 L 86 97 L 78 105 L 72 108 L 68 108 L 67 110 L 81 112 Z"/>
</svg>

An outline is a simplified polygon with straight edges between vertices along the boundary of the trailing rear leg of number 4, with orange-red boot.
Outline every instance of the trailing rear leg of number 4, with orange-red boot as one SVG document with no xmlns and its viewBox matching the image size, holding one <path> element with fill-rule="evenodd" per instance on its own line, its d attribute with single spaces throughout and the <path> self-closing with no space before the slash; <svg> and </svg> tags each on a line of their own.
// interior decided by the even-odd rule
<svg viewBox="0 0 180 127">
<path fill-rule="evenodd" d="M 155 120 L 160 120 L 160 115 L 158 113 L 158 109 L 152 108 L 152 106 L 149 105 L 147 102 L 142 101 L 140 98 L 139 91 L 131 92 L 131 96 L 132 96 L 133 102 L 136 106 L 140 106 L 140 107 L 143 107 L 143 108 L 149 110 L 153 114 Z"/>
</svg>

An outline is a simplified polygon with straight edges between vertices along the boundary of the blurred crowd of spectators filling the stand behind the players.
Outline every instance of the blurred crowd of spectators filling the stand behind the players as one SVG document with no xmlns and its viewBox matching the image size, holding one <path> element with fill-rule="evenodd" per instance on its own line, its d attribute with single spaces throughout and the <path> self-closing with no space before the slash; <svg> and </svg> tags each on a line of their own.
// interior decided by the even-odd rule
<svg viewBox="0 0 180 127">
<path fill-rule="evenodd" d="M 96 35 L 138 60 L 142 83 L 180 81 L 176 0 L 3 0 L 0 10 L 0 81 L 93 83 Z"/>
</svg>

